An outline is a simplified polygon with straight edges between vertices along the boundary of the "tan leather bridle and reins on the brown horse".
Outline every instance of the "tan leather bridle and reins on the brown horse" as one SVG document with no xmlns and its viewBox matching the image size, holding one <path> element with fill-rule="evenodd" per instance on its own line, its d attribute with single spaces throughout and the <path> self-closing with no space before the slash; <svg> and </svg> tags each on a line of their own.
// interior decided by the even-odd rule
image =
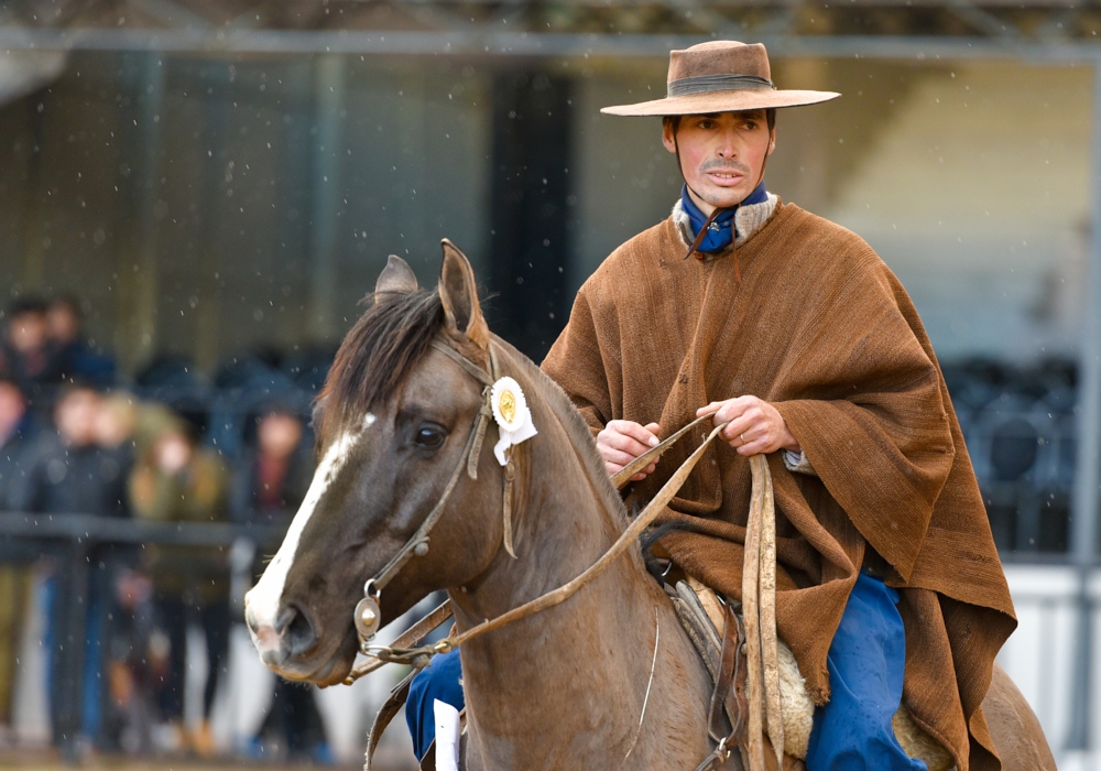
<svg viewBox="0 0 1101 771">
<path fill-rule="evenodd" d="M 455 490 L 456 485 L 466 469 L 470 479 L 478 479 L 478 459 L 486 437 L 486 430 L 492 419 L 492 408 L 490 405 L 490 390 L 499 376 L 497 354 L 493 344 L 490 343 L 489 365 L 487 372 L 480 366 L 465 357 L 462 354 L 440 340 L 433 341 L 433 348 L 443 352 L 468 374 L 483 386 L 482 403 L 478 414 L 475 416 L 470 435 L 464 446 L 459 461 L 451 473 L 444 492 L 425 518 L 416 532 L 405 542 L 401 550 L 390 560 L 389 563 L 375 576 L 367 582 L 363 587 L 363 599 L 356 606 L 356 630 L 359 634 L 360 651 L 370 658 L 352 667 L 345 678 L 346 684 L 352 684 L 360 677 L 388 663 L 411 664 L 415 667 L 410 673 L 395 693 L 404 688 L 407 691 L 408 683 L 421 669 L 428 665 L 434 655 L 447 653 L 457 649 L 465 642 L 469 642 L 486 632 L 500 629 L 514 621 L 534 616 L 535 613 L 554 607 L 580 591 L 585 586 L 596 579 L 613 562 L 622 556 L 639 540 L 665 507 L 673 500 L 680 490 L 696 464 L 704 456 L 704 453 L 728 425 L 722 423 L 715 426 L 702 443 L 693 452 L 688 459 L 673 474 L 662 486 L 657 495 L 646 504 L 646 507 L 626 526 L 623 533 L 617 539 L 607 552 L 597 562 L 590 565 L 585 572 L 569 580 L 568 583 L 553 589 L 545 595 L 524 602 L 512 610 L 501 613 L 497 618 L 482 621 L 481 623 L 467 629 L 466 631 L 445 638 L 436 643 L 421 645 L 419 643 L 453 616 L 451 602 L 446 600 L 435 608 L 426 617 L 417 621 L 407 631 L 401 634 L 390 645 L 370 644 L 371 639 L 378 632 L 382 613 L 379 609 L 379 598 L 383 587 L 404 567 L 414 556 L 424 556 L 428 553 L 429 532 L 443 517 L 447 501 Z M 666 437 L 663 442 L 650 448 L 633 461 L 624 466 L 611 480 L 617 489 L 624 488 L 631 478 L 646 468 L 656 458 L 661 457 L 672 445 L 687 436 L 700 424 L 711 421 L 713 413 L 708 413 L 697 417 L 676 433 Z M 775 526 L 775 501 L 773 497 L 772 476 L 768 469 L 768 461 L 763 455 L 755 455 L 749 458 L 750 468 L 753 476 L 753 495 L 750 501 L 750 512 L 746 522 L 745 557 L 742 575 L 742 606 L 745 622 L 745 648 L 749 664 L 749 724 L 746 731 L 746 745 L 742 748 L 743 758 L 748 761 L 751 771 L 764 771 L 764 746 L 763 737 L 767 732 L 772 740 L 773 751 L 776 758 L 776 768 L 782 768 L 784 753 L 783 720 L 780 702 L 780 674 L 777 662 L 777 636 L 776 636 L 776 526 Z M 514 478 L 514 465 L 512 455 L 509 455 L 504 478 L 504 534 L 502 545 L 509 554 L 515 558 L 512 545 L 512 486 Z M 733 622 L 729 608 L 726 610 L 728 619 Z M 733 651 L 727 651 L 723 645 L 723 656 L 733 655 Z M 656 649 L 655 649 L 656 661 Z M 729 684 L 728 684 L 729 687 Z M 716 693 L 722 687 L 717 683 Z M 712 702 L 715 701 L 712 696 Z M 392 699 L 393 701 L 393 699 Z M 402 699 L 403 701 L 403 699 Z M 711 705 L 712 712 L 715 705 Z M 385 712 L 385 708 L 384 708 Z M 383 714 L 380 713 L 380 719 Z M 382 727 L 390 721 L 392 715 L 385 716 Z M 377 724 L 378 726 L 378 724 Z M 696 771 L 716 771 L 735 749 L 737 737 L 741 729 L 735 726 L 728 737 L 718 738 L 715 750 L 697 767 Z M 371 765 L 371 757 L 378 743 L 381 731 L 372 728 L 367 749 L 367 765 Z"/>
</svg>

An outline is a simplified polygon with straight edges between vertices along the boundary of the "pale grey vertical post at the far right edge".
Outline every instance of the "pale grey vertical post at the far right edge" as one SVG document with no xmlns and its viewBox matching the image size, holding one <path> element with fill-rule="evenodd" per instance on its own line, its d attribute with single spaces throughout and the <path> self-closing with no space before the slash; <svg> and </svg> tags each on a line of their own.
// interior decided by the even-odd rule
<svg viewBox="0 0 1101 771">
<path fill-rule="evenodd" d="M 1078 567 L 1078 630 L 1071 725 L 1067 749 L 1090 747 L 1093 634 L 1088 594 L 1090 569 L 1097 561 L 1098 515 L 1101 503 L 1101 59 L 1093 63 L 1092 216 L 1086 286 L 1086 318 L 1078 377 L 1078 461 L 1071 508 L 1070 551 Z"/>
</svg>

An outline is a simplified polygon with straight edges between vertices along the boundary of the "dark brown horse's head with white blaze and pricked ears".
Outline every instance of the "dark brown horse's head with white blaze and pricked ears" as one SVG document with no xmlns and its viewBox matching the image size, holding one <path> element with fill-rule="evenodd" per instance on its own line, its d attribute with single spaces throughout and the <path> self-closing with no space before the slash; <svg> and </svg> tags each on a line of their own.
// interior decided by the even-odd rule
<svg viewBox="0 0 1101 771">
<path fill-rule="evenodd" d="M 503 470 L 492 454 L 475 459 L 481 484 L 458 473 L 483 410 L 483 383 L 439 345 L 491 369 L 469 260 L 445 240 L 439 285 L 427 292 L 391 257 L 368 304 L 315 408 L 313 482 L 244 598 L 263 662 L 319 685 L 342 681 L 355 661 L 352 610 L 364 582 L 408 545 L 442 497 L 448 512 L 461 515 L 442 517 L 414 563 L 394 573 L 378 598 L 382 622 L 430 591 L 477 580 L 503 534 Z"/>
</svg>

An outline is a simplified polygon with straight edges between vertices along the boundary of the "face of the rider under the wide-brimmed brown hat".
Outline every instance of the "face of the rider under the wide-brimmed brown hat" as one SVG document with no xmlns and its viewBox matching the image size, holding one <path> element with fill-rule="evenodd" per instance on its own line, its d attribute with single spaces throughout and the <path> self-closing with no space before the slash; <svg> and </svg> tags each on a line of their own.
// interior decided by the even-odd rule
<svg viewBox="0 0 1101 771">
<path fill-rule="evenodd" d="M 705 215 L 735 206 L 753 192 L 775 140 L 764 110 L 684 116 L 675 137 L 669 124 L 662 135 L 671 153 L 679 146 L 688 194 Z"/>
</svg>

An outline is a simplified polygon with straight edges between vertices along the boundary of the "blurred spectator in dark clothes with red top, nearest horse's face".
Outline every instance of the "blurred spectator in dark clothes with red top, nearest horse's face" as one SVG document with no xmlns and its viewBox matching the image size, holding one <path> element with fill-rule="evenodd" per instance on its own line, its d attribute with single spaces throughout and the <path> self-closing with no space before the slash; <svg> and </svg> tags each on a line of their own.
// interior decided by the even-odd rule
<svg viewBox="0 0 1101 771">
<path fill-rule="evenodd" d="M 272 524 L 297 511 L 314 476 L 310 455 L 303 452 L 304 431 L 302 419 L 282 404 L 261 411 L 254 447 L 237 465 L 235 522 Z M 262 572 L 263 565 L 254 566 L 257 575 Z M 276 677 L 271 709 L 252 745 L 257 754 L 261 747 L 274 746 L 275 751 L 266 754 L 326 759 L 325 726 L 314 702 L 314 686 Z"/>
</svg>

